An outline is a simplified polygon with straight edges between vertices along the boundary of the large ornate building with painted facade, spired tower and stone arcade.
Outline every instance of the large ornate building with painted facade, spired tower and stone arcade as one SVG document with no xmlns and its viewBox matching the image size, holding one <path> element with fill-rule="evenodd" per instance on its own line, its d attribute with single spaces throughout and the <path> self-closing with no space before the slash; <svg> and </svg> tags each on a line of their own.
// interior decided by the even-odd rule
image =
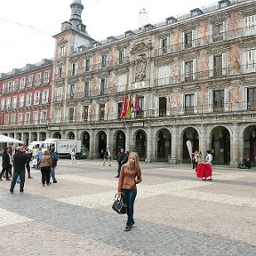
<svg viewBox="0 0 256 256">
<path fill-rule="evenodd" d="M 190 163 L 190 140 L 213 164 L 255 162 L 255 1 L 221 0 L 103 41 L 88 34 L 81 1 L 70 8 L 54 36 L 47 138 L 82 140 L 92 158 L 125 148 Z M 125 97 L 133 108 L 121 118 Z"/>
</svg>

